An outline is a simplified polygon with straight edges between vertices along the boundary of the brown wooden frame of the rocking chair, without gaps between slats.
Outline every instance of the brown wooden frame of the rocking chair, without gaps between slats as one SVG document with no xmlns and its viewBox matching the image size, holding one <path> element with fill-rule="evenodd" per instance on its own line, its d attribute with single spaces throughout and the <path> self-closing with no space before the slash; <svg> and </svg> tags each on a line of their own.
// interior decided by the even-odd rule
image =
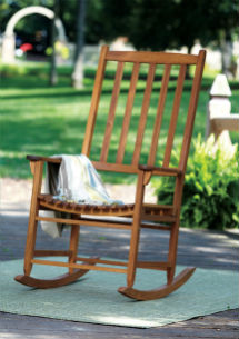
<svg viewBox="0 0 239 339">
<path fill-rule="evenodd" d="M 114 77 L 114 83 L 112 89 L 112 96 L 110 99 L 110 110 L 108 114 L 102 149 L 100 152 L 100 161 L 94 161 L 93 166 L 98 170 L 112 171 L 112 172 L 125 172 L 137 176 L 137 188 L 133 203 L 130 205 L 80 205 L 71 201 L 61 201 L 50 195 L 41 195 L 41 181 L 42 181 L 42 169 L 46 161 L 51 161 L 50 158 L 44 157 L 33 157 L 29 156 L 28 159 L 32 163 L 33 168 L 33 190 L 32 190 L 32 200 L 29 218 L 29 230 L 27 236 L 27 246 L 26 246 L 26 256 L 24 256 L 24 276 L 19 277 L 17 280 L 24 283 L 38 283 L 33 278 L 29 277 L 32 265 L 46 265 L 46 266 L 56 266 L 56 267 L 66 267 L 69 270 L 69 275 L 62 279 L 56 279 L 56 286 L 64 283 L 64 281 L 71 281 L 73 279 L 72 275 L 76 275 L 76 269 L 80 270 L 101 270 L 109 272 L 119 272 L 127 275 L 127 288 L 120 289 L 126 296 L 130 298 L 136 298 L 140 300 L 149 300 L 155 298 L 161 298 L 175 289 L 183 285 L 191 276 L 193 269 L 188 268 L 177 278 L 175 278 L 176 260 L 178 255 L 178 232 L 179 232 L 179 213 L 181 205 L 181 195 L 183 187 L 185 169 L 188 157 L 188 149 L 190 144 L 197 100 L 199 94 L 199 87 L 202 76 L 203 62 L 205 62 L 205 52 L 200 52 L 199 57 L 188 56 L 188 54 L 178 54 L 178 53 L 162 53 L 162 52 L 109 52 L 108 47 L 102 47 L 99 67 L 96 76 L 94 89 L 92 94 L 92 101 L 89 112 L 89 120 L 87 123 L 84 142 L 82 147 L 82 152 L 86 156 L 89 156 L 91 141 L 93 138 L 93 130 L 98 113 L 98 106 L 100 101 L 100 93 L 102 88 L 102 81 L 104 76 L 106 63 L 108 60 L 116 60 L 117 71 Z M 125 62 L 136 62 L 132 68 L 132 76 L 130 81 L 130 88 L 128 93 L 128 99 L 126 102 L 125 118 L 122 122 L 122 131 L 120 134 L 119 149 L 117 153 L 117 161 L 114 163 L 107 162 L 108 153 L 110 149 L 110 140 L 113 131 L 113 124 L 117 113 L 118 98 L 120 93 L 120 83 L 123 76 Z M 121 163 L 123 160 L 127 134 L 129 130 L 129 124 L 131 120 L 131 110 L 136 93 L 136 86 L 139 77 L 139 68 L 141 63 L 148 62 L 148 76 L 146 81 L 146 88 L 143 92 L 143 99 L 141 104 L 141 113 L 139 118 L 138 129 L 136 131 L 136 143 L 132 147 L 132 162 L 131 164 Z M 161 91 L 159 94 L 158 108 L 156 111 L 156 120 L 152 129 L 152 141 L 149 149 L 148 164 L 140 164 L 140 154 L 141 147 L 143 143 L 143 134 L 147 126 L 148 110 L 150 107 L 151 92 L 153 88 L 156 66 L 165 64 L 165 73 L 161 82 Z M 158 139 L 160 134 L 160 127 L 162 122 L 162 112 L 166 103 L 166 97 L 168 91 L 169 76 L 171 66 L 180 66 L 179 77 L 177 81 L 177 88 L 175 93 L 175 100 L 172 104 L 171 120 L 169 123 L 166 152 L 162 167 L 155 167 L 153 162 L 156 159 Z M 189 111 L 186 122 L 182 151 L 180 158 L 179 168 L 170 168 L 170 157 L 173 144 L 175 131 L 177 127 L 177 120 L 180 109 L 181 94 L 183 89 L 183 80 L 186 76 L 187 64 L 196 64 L 196 73 L 192 84 L 191 98 L 189 103 Z M 61 159 L 54 159 L 53 162 L 60 163 Z M 150 182 L 152 176 L 173 176 L 176 177 L 176 188 L 173 196 L 172 206 L 160 206 L 160 205 L 150 205 L 145 203 L 145 189 L 146 186 Z M 119 197 L 120 199 L 120 197 Z M 39 215 L 40 210 L 50 210 L 50 211 L 60 211 L 66 213 L 67 217 L 44 217 Z M 110 217 L 108 220 L 107 218 Z M 120 217 L 117 220 L 116 217 Z M 129 220 L 130 219 L 130 220 Z M 52 252 L 53 256 L 59 256 L 63 253 L 68 255 L 68 262 L 54 261 L 54 260 L 44 260 L 36 259 L 34 255 L 43 253 L 46 257 L 49 251 L 36 250 L 36 236 L 37 236 L 37 222 L 38 221 L 53 221 L 71 226 L 70 243 L 68 245 L 68 251 L 60 250 L 59 252 Z M 162 223 L 162 225 L 161 225 Z M 113 267 L 110 261 L 104 262 L 100 259 L 98 260 L 83 260 L 83 263 L 78 263 L 78 240 L 79 240 L 79 226 L 86 227 L 101 227 L 101 228 L 111 228 L 118 229 L 120 231 L 129 231 L 129 256 L 128 260 L 120 267 Z M 167 230 L 169 232 L 169 248 L 167 261 L 153 261 L 153 260 L 139 260 L 138 249 L 141 229 L 152 229 L 152 230 Z M 96 263 L 111 265 L 111 267 L 106 266 L 96 266 Z M 116 261 L 114 261 L 116 263 Z M 141 267 L 143 269 L 161 269 L 167 272 L 167 282 L 168 285 L 157 289 L 156 291 L 137 291 L 133 289 L 133 282 L 136 277 L 137 268 Z M 80 273 L 80 272 L 79 272 Z M 71 278 L 70 278 L 71 277 Z M 41 282 L 46 288 L 53 286 L 54 279 L 51 282 Z"/>
</svg>

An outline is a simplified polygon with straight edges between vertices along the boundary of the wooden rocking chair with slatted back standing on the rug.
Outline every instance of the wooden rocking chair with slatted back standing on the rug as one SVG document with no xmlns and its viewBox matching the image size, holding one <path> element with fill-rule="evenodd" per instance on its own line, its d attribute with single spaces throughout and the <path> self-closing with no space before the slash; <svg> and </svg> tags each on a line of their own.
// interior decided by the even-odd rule
<svg viewBox="0 0 239 339">
<path fill-rule="evenodd" d="M 23 285 L 33 288 L 52 288 L 60 287 L 77 280 L 79 277 L 86 275 L 89 270 L 103 270 L 109 272 L 120 272 L 127 275 L 126 287 L 120 287 L 118 291 L 127 297 L 138 300 L 150 300 L 165 297 L 180 286 L 182 286 L 192 275 L 195 268 L 183 269 L 177 277 L 176 260 L 177 260 L 177 245 L 179 232 L 179 216 L 180 205 L 183 188 L 183 178 L 189 153 L 190 140 L 192 136 L 192 127 L 195 121 L 196 108 L 198 102 L 199 89 L 203 71 L 206 52 L 201 50 L 198 56 L 167 53 L 167 52 L 141 52 L 141 51 L 109 51 L 107 46 L 103 46 L 100 53 L 98 71 L 92 93 L 92 101 L 89 112 L 89 119 L 86 129 L 84 141 L 82 146 L 82 153 L 91 159 L 90 151 L 93 134 L 96 134 L 96 123 L 100 107 L 100 98 L 103 94 L 102 83 L 104 76 L 108 74 L 107 84 L 109 86 L 109 77 L 112 73 L 112 66 L 117 64 L 112 96 L 109 103 L 109 114 L 106 119 L 106 132 L 102 140 L 102 147 L 99 151 L 99 140 L 97 139 L 97 151 L 99 159 L 94 159 L 92 163 L 99 171 L 121 172 L 137 176 L 137 187 L 135 202 L 129 205 L 113 205 L 113 206 L 90 206 L 77 205 L 72 202 L 62 202 L 53 199 L 52 196 L 41 193 L 42 171 L 46 162 L 56 164 L 61 163 L 60 158 L 47 158 L 38 156 L 28 156 L 30 160 L 31 171 L 33 173 L 33 188 L 29 216 L 29 228 L 26 245 L 24 256 L 24 275 L 17 276 L 14 279 Z M 106 67 L 110 66 L 110 72 L 106 72 Z M 192 66 L 192 67 L 191 67 Z M 126 73 L 125 69 L 132 67 L 131 76 Z M 189 88 L 188 79 L 186 79 L 187 67 L 191 67 L 191 87 Z M 148 72 L 146 71 L 146 68 Z M 139 71 L 143 71 L 139 72 Z M 161 71 L 160 71 L 161 69 Z M 176 74 L 176 72 L 178 73 Z M 125 74 L 125 76 L 123 76 Z M 125 78 L 123 78 L 125 77 Z M 123 87 L 122 93 L 122 78 L 129 80 L 129 91 L 126 94 Z M 169 81 L 170 78 L 170 81 Z M 146 86 L 142 84 L 146 82 Z M 175 83 L 173 83 L 175 82 Z M 183 84 L 185 83 L 185 84 Z M 125 84 L 125 81 L 123 81 Z M 141 86 L 141 88 L 138 88 Z M 158 86 L 158 91 L 157 91 Z M 186 99 L 188 99 L 188 109 L 183 113 L 180 110 L 181 97 L 185 94 L 183 86 L 186 87 Z M 143 88 L 143 90 L 142 90 Z M 175 93 L 173 93 L 175 90 Z M 109 96 L 109 89 L 107 89 Z M 117 120 L 117 111 L 120 96 L 125 96 L 126 107 L 121 120 Z M 141 96 L 140 113 L 133 117 L 133 103 L 136 96 Z M 157 99 L 153 99 L 156 98 Z M 152 98 L 153 97 L 153 98 Z M 171 108 L 166 111 L 166 107 L 171 101 Z M 155 100 L 155 102 L 153 102 Z M 137 101 L 137 104 L 139 104 Z M 152 102 L 151 102 L 152 101 Z M 185 101 L 183 101 L 185 102 Z M 170 103 L 169 103 L 170 104 Z M 168 104 L 168 106 L 169 106 Z M 151 108 L 152 107 L 152 108 Z M 150 108 L 150 109 L 149 109 Z M 101 108 L 102 109 L 102 108 Z M 103 107 L 104 109 L 104 107 Z M 121 110 L 122 111 L 122 110 Z M 149 114 L 150 111 L 150 114 Z M 169 111 L 169 113 L 168 113 Z M 152 114 L 155 113 L 153 118 Z M 185 114 L 185 116 L 183 116 Z M 170 166 L 171 151 L 175 146 L 175 134 L 177 130 L 177 120 L 181 116 L 185 117 L 185 132 L 181 134 L 181 151 L 178 167 Z M 153 121 L 151 127 L 151 141 L 148 144 L 148 159 L 143 158 L 143 134 L 149 138 L 147 131 L 148 119 Z M 165 123 L 163 119 L 168 121 L 168 134 L 161 131 L 159 142 L 159 134 L 161 126 Z M 180 118 L 180 119 L 179 119 Z M 138 119 L 138 121 L 137 121 Z M 168 120 L 167 120 L 168 119 Z M 181 119 L 183 120 L 183 119 Z M 182 121 L 180 120 L 180 130 Z M 102 119 L 100 120 L 102 121 Z M 119 122 L 121 121 L 121 122 Z M 135 140 L 129 133 L 130 127 L 138 124 Z M 165 123 L 166 124 L 166 123 Z M 179 123 L 178 123 L 179 124 Z M 117 150 L 111 151 L 110 161 L 108 156 L 110 153 L 111 137 L 116 137 L 113 128 L 121 126 L 119 133 L 119 146 Z M 147 133 L 145 133 L 145 130 Z M 163 129 L 165 131 L 165 129 Z M 99 133 L 97 134 L 99 138 Z M 162 141 L 165 140 L 165 150 Z M 127 149 L 127 144 L 129 146 Z M 178 147 L 178 144 L 176 144 Z M 131 158 L 129 150 L 132 150 Z M 146 149 L 146 147 L 145 147 Z M 159 149 L 159 150 L 158 150 Z M 127 157 L 126 157 L 127 154 Z M 161 154 L 161 156 L 160 156 Z M 114 160 L 112 160 L 114 157 Z M 161 157 L 161 158 L 160 158 Z M 125 159 L 127 158 L 127 159 Z M 129 160 L 130 159 L 130 160 Z M 156 166 L 159 163 L 160 166 Z M 127 163 L 128 160 L 128 163 Z M 175 177 L 176 187 L 172 203 L 169 206 L 161 206 L 157 203 L 146 203 L 143 201 L 146 186 L 150 182 L 152 176 L 169 176 Z M 120 198 L 120 197 L 119 197 Z M 62 211 L 67 212 L 68 218 L 47 218 L 41 216 L 41 210 Z M 71 216 L 71 217 L 69 217 Z M 99 218 L 100 217 L 100 218 Z M 109 218 L 113 217 L 113 218 Z M 120 218 L 116 218 L 120 217 Z M 71 227 L 69 250 L 36 250 L 37 227 L 39 221 L 63 222 Z M 128 262 L 104 260 L 100 258 L 81 258 L 78 257 L 78 240 L 80 225 L 89 227 L 103 227 L 111 229 L 126 229 L 130 232 L 130 248 Z M 166 261 L 140 261 L 138 260 L 138 247 L 140 230 L 142 228 L 169 231 L 169 252 Z M 52 261 L 47 257 L 64 256 L 67 261 Z M 43 260 L 42 258 L 46 257 Z M 49 265 L 57 267 L 66 267 L 68 272 L 64 276 L 57 277 L 51 280 L 36 279 L 30 276 L 33 265 Z M 133 288 L 135 276 L 137 268 L 156 269 L 167 272 L 167 285 L 152 290 L 137 290 Z"/>
</svg>

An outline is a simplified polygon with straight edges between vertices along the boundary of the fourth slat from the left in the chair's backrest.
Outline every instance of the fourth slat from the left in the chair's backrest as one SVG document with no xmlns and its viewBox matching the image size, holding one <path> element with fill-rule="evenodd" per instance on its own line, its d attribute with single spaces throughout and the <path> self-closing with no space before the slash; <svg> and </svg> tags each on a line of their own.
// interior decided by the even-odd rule
<svg viewBox="0 0 239 339">
<path fill-rule="evenodd" d="M 150 153 L 149 153 L 149 158 L 148 158 L 149 166 L 153 166 L 155 161 L 156 161 L 156 153 L 157 153 L 157 148 L 158 148 L 159 133 L 160 133 L 160 129 L 161 129 L 161 124 L 162 124 L 162 114 L 163 114 L 166 97 L 167 97 L 167 92 L 168 92 L 170 71 L 171 71 L 171 64 L 166 64 L 162 83 L 161 83 L 161 90 L 160 90 L 160 94 L 159 94 L 159 103 L 158 103 L 158 108 L 157 108 L 157 116 L 156 116 L 156 122 L 155 122 L 155 128 L 153 128 L 153 133 L 152 133 Z"/>
</svg>

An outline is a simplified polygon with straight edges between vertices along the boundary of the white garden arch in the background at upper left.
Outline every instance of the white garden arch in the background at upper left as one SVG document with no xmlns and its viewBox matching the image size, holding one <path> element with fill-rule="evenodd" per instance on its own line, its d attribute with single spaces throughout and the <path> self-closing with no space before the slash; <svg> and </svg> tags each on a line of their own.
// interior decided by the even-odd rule
<svg viewBox="0 0 239 339">
<path fill-rule="evenodd" d="M 41 6 L 30 6 L 19 10 L 14 13 L 9 20 L 3 40 L 2 40 L 2 62 L 13 63 L 14 62 L 14 49 L 16 49 L 16 39 L 14 39 L 14 27 L 19 20 L 30 14 L 41 14 L 50 20 L 54 18 L 54 12 L 46 7 Z M 64 28 L 60 19 L 56 20 L 56 27 L 58 30 L 59 40 L 62 42 L 67 41 L 67 37 L 64 33 Z"/>
</svg>

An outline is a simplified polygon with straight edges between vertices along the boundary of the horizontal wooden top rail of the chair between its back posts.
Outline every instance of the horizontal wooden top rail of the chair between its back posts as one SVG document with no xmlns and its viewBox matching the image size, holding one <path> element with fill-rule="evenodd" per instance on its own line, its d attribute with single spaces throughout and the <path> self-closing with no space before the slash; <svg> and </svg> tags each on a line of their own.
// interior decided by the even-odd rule
<svg viewBox="0 0 239 339">
<path fill-rule="evenodd" d="M 168 52 L 108 51 L 106 60 L 158 64 L 196 64 L 198 62 L 198 56 Z"/>
</svg>

